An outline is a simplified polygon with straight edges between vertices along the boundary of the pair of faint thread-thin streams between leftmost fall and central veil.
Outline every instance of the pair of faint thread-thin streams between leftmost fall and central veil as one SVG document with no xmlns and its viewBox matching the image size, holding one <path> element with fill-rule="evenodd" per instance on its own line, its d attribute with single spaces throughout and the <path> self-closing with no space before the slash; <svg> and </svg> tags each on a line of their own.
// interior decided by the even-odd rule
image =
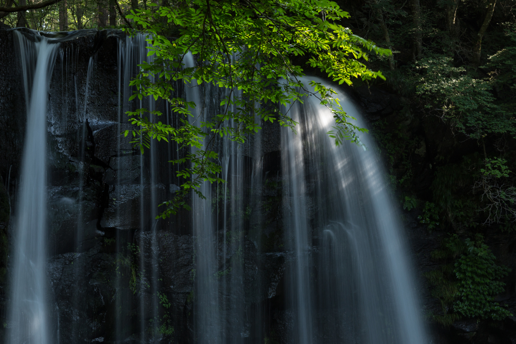
<svg viewBox="0 0 516 344">
<path fill-rule="evenodd" d="M 151 63 L 153 60 L 152 56 L 147 56 L 149 43 L 146 41 L 147 35 L 137 34 L 134 37 L 126 37 L 124 40 L 119 41 L 118 46 L 118 132 L 123 132 L 121 129 L 124 128 L 133 129 L 133 126 L 129 126 L 126 123 L 127 117 L 125 112 L 129 110 L 135 110 L 138 108 L 146 108 L 149 111 L 158 110 L 158 104 L 152 96 L 148 96 L 139 101 L 129 101 L 129 97 L 133 94 L 134 88 L 130 86 L 130 81 L 136 76 L 139 67 L 138 64 L 142 62 Z M 164 113 L 168 114 L 168 107 L 164 109 Z M 143 116 L 148 116 L 144 114 Z M 154 115 L 150 114 L 151 121 L 154 120 Z M 168 119 L 167 119 L 168 120 Z M 126 166 L 121 165 L 121 157 L 127 154 L 122 148 L 123 143 L 120 138 L 118 139 L 117 149 L 117 186 L 116 186 L 116 198 L 120 199 L 124 188 L 130 187 L 131 183 L 135 181 L 128 180 L 122 177 L 120 171 Z M 121 257 L 134 254 L 131 250 L 138 252 L 138 272 L 135 272 L 137 279 L 137 286 L 134 286 L 134 293 L 137 292 L 138 299 L 138 340 L 139 342 L 155 342 L 159 338 L 158 333 L 158 280 L 159 280 L 159 267 L 157 261 L 157 228 L 158 223 L 155 217 L 158 215 L 157 202 L 160 198 L 159 192 L 164 191 L 165 187 L 162 183 L 159 183 L 160 175 L 158 168 L 158 143 L 154 140 L 151 141 L 150 149 L 145 154 L 139 155 L 138 166 L 139 166 L 139 229 L 135 234 L 135 242 L 132 243 L 128 240 L 127 230 L 130 227 L 121 227 L 123 223 L 123 217 L 136 218 L 135 214 L 127 214 L 127 209 L 120 208 L 120 204 L 117 207 L 117 252 Z M 136 157 L 136 156 L 135 156 Z M 136 223 L 135 223 L 136 224 Z M 125 230 L 125 231 L 124 231 Z M 127 245 L 131 245 L 132 249 L 129 249 Z M 135 246 L 136 245 L 136 246 Z M 137 247 L 137 248 L 136 248 Z M 120 267 L 121 268 L 121 267 Z M 116 338 L 123 340 L 127 337 L 128 326 L 131 326 L 130 319 L 127 319 L 127 313 L 130 312 L 130 308 L 127 305 L 127 299 L 130 298 L 130 294 L 124 284 L 127 283 L 126 279 L 122 278 L 122 274 L 117 276 L 117 299 L 116 304 L 119 312 L 117 313 L 116 319 Z M 137 289 L 137 290 L 136 290 Z"/>
</svg>

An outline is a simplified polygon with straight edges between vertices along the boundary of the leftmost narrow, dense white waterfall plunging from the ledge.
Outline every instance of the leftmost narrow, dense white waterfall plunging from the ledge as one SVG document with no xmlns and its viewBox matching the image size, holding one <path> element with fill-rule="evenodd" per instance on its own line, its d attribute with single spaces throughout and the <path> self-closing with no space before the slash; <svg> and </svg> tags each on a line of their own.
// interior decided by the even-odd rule
<svg viewBox="0 0 516 344">
<path fill-rule="evenodd" d="M 59 44 L 14 31 L 22 58 L 27 127 L 15 224 L 12 297 L 7 341 L 52 342 L 46 280 L 46 110 Z"/>
</svg>

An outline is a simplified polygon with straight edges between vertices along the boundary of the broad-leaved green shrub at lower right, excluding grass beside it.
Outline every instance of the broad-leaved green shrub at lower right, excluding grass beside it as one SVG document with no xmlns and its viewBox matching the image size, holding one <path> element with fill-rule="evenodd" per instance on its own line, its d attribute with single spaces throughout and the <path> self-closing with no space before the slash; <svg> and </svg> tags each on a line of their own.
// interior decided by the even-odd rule
<svg viewBox="0 0 516 344">
<path fill-rule="evenodd" d="M 454 272 L 459 281 L 456 312 L 466 317 L 503 320 L 512 314 L 493 302 L 493 296 L 504 291 L 505 283 L 498 281 L 510 269 L 495 264 L 496 257 L 479 234 L 475 241 L 465 240 L 465 253 L 455 263 Z"/>
</svg>

